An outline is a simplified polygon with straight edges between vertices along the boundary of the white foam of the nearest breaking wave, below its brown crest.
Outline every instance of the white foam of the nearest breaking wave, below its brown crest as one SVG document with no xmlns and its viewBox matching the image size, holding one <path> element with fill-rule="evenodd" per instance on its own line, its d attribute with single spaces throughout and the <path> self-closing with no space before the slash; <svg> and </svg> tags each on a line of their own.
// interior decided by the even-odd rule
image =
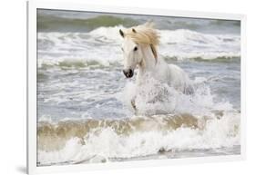
<svg viewBox="0 0 256 175">
<path fill-rule="evenodd" d="M 205 129 L 179 128 L 175 131 L 135 131 L 119 135 L 111 128 L 92 131 L 85 136 L 85 144 L 72 138 L 59 151 L 38 151 L 40 164 L 65 161 L 88 161 L 95 157 L 99 162 L 111 158 L 133 158 L 159 151 L 182 151 L 192 149 L 216 149 L 240 145 L 240 115 L 225 113 L 221 119 L 212 119 Z"/>
</svg>

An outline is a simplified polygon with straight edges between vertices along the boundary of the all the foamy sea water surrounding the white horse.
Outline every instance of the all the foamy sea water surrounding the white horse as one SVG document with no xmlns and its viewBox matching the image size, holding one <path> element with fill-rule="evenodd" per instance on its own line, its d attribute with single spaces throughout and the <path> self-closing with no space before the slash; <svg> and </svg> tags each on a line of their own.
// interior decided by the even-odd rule
<svg viewBox="0 0 256 175">
<path fill-rule="evenodd" d="M 240 22 L 37 13 L 38 166 L 240 154 Z M 159 56 L 188 73 L 194 94 L 125 78 L 118 30 L 147 21 Z"/>
</svg>

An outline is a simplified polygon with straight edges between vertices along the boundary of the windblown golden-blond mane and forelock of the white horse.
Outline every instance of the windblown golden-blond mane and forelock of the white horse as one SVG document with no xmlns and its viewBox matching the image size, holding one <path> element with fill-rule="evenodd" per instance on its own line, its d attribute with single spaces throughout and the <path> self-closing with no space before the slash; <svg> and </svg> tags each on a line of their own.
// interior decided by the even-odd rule
<svg viewBox="0 0 256 175">
<path fill-rule="evenodd" d="M 159 34 L 154 28 L 153 23 L 141 24 L 128 28 L 125 31 L 125 37 L 129 37 L 138 44 L 149 44 L 154 57 L 158 58 L 157 46 L 159 45 Z"/>
</svg>

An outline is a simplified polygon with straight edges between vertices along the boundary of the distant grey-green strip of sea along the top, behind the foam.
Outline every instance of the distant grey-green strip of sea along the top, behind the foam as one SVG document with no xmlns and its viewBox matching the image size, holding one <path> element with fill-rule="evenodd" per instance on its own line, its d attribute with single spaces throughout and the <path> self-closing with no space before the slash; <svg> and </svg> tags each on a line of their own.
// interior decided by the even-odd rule
<svg viewBox="0 0 256 175">
<path fill-rule="evenodd" d="M 94 12 L 76 12 L 39 9 L 37 11 L 38 29 L 40 32 L 87 32 L 99 26 L 122 24 L 130 27 L 153 21 L 161 30 L 189 29 L 211 34 L 239 34 L 240 21 L 202 18 L 186 18 L 154 15 L 122 15 Z"/>
</svg>

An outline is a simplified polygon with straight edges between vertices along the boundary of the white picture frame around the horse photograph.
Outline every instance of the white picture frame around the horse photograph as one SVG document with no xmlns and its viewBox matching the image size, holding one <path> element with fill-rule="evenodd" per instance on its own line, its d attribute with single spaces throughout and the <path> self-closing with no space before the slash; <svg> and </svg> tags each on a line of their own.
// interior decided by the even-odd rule
<svg viewBox="0 0 256 175">
<path fill-rule="evenodd" d="M 241 21 L 241 155 L 199 157 L 167 160 L 133 160 L 97 164 L 77 164 L 50 167 L 36 166 L 36 9 L 58 9 L 116 14 L 163 15 L 193 18 L 213 18 Z M 167 166 L 187 163 L 202 163 L 230 160 L 244 160 L 246 152 L 245 112 L 245 61 L 246 61 L 246 16 L 235 14 L 174 11 L 167 9 L 128 8 L 125 6 L 86 5 L 76 3 L 54 3 L 43 1 L 27 2 L 27 172 L 29 174 L 64 172 L 77 170 L 107 170 L 134 167 Z"/>
</svg>

